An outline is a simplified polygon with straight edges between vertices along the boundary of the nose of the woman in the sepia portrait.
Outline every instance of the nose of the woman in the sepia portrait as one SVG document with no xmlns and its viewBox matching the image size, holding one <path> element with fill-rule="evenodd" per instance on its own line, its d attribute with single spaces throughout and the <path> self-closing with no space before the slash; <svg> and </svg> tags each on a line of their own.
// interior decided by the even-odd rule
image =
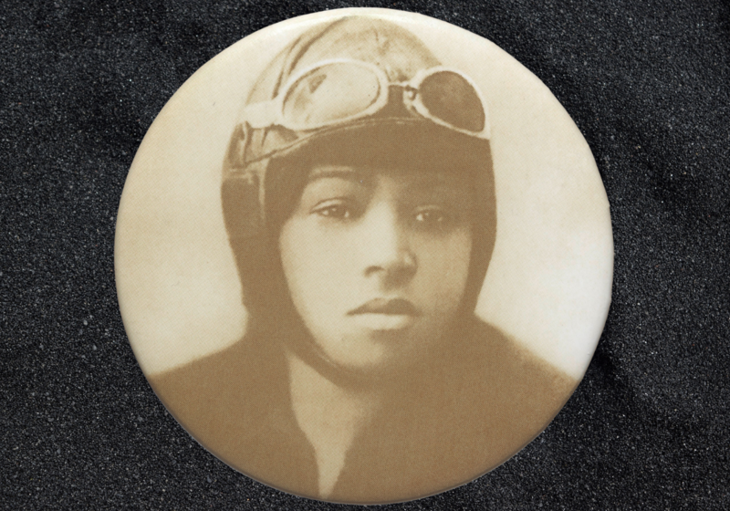
<svg viewBox="0 0 730 511">
<path fill-rule="evenodd" d="M 365 276 L 380 275 L 385 284 L 399 286 L 415 275 L 418 267 L 408 227 L 393 204 L 373 204 L 363 218 L 362 253 Z"/>
</svg>

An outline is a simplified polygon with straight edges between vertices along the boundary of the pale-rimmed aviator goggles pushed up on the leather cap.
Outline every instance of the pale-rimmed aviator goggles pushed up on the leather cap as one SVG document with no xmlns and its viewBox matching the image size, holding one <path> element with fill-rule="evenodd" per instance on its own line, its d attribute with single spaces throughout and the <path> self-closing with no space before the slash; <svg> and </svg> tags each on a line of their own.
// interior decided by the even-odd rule
<svg viewBox="0 0 730 511">
<path fill-rule="evenodd" d="M 489 138 L 484 101 L 471 78 L 435 67 L 420 70 L 406 82 L 392 83 L 368 62 L 332 58 L 289 78 L 275 99 L 244 110 L 254 129 L 282 126 L 308 131 L 363 120 L 381 112 L 401 90 L 402 105 L 415 117 L 481 139 Z"/>
</svg>

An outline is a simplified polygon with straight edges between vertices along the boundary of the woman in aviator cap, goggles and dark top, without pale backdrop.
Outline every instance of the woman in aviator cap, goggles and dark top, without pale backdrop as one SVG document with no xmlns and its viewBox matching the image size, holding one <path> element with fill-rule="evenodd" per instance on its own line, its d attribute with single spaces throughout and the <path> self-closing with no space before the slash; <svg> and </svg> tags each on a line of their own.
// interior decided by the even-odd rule
<svg viewBox="0 0 730 511">
<path fill-rule="evenodd" d="M 267 485 L 362 504 L 464 484 L 540 433 L 577 381 L 474 315 L 498 226 L 473 80 L 343 16 L 242 111 L 222 203 L 245 336 L 151 377 L 187 431 Z"/>
</svg>

